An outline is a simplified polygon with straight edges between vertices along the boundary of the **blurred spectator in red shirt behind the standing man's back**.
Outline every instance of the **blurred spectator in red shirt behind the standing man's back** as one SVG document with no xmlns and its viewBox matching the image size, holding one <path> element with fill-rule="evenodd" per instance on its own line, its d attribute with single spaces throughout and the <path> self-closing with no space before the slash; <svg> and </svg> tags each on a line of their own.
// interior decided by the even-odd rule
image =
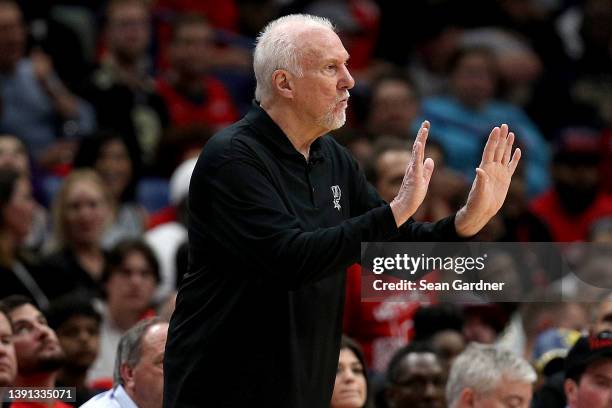
<svg viewBox="0 0 612 408">
<path fill-rule="evenodd" d="M 207 75 L 213 57 L 213 29 L 199 15 L 179 16 L 170 42 L 170 71 L 157 81 L 174 126 L 203 124 L 213 129 L 238 119 L 225 86 Z"/>
</svg>

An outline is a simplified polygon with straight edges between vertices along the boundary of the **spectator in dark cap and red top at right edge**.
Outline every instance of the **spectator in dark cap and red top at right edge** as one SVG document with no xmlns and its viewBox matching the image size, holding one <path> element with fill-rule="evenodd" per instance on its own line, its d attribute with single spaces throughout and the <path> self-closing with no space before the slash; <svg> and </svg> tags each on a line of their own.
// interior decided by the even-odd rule
<svg viewBox="0 0 612 408">
<path fill-rule="evenodd" d="M 531 203 L 555 241 L 584 241 L 589 226 L 612 215 L 612 196 L 601 188 L 599 134 L 591 129 L 566 129 L 556 143 L 553 186 Z"/>
</svg>

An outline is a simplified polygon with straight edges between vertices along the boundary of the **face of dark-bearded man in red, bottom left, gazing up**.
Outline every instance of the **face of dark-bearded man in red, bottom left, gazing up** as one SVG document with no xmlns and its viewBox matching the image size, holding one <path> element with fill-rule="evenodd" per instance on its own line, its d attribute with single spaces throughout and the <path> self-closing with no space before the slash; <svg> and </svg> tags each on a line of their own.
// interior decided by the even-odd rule
<svg viewBox="0 0 612 408">
<path fill-rule="evenodd" d="M 53 372 L 64 363 L 64 352 L 53 329 L 38 309 L 25 304 L 10 313 L 20 375 Z"/>
</svg>

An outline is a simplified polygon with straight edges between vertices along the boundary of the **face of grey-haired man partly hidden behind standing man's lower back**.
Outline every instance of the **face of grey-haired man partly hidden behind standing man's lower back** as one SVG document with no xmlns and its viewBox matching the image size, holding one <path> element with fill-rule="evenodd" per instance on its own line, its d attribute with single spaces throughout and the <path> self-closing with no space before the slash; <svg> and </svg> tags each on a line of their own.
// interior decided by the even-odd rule
<svg viewBox="0 0 612 408">
<path fill-rule="evenodd" d="M 134 367 L 124 364 L 121 376 L 125 390 L 137 406 L 161 408 L 164 390 L 164 349 L 168 324 L 151 326 L 142 338 L 140 360 Z"/>
</svg>

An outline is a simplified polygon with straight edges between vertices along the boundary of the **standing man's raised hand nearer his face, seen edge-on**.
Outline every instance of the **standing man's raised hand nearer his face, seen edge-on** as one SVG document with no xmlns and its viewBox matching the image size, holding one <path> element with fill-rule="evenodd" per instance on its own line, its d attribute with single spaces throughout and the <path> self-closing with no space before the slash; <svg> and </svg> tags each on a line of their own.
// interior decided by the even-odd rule
<svg viewBox="0 0 612 408">
<path fill-rule="evenodd" d="M 424 121 L 412 145 L 412 157 L 406 168 L 404 180 L 397 196 L 391 201 L 391 210 L 397 226 L 408 221 L 427 194 L 427 187 L 434 169 L 432 159 L 425 159 L 425 143 L 429 134 L 429 122 Z"/>
</svg>

